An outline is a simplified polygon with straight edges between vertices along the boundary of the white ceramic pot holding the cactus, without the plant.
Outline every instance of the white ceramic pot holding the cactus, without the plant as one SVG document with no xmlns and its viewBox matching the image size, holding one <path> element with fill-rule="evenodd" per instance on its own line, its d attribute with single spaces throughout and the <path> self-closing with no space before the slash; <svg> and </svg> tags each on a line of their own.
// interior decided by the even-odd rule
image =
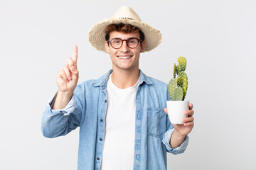
<svg viewBox="0 0 256 170">
<path fill-rule="evenodd" d="M 189 101 L 166 101 L 167 111 L 172 124 L 183 124 L 182 119 L 187 118 L 184 111 L 188 110 Z"/>
</svg>

